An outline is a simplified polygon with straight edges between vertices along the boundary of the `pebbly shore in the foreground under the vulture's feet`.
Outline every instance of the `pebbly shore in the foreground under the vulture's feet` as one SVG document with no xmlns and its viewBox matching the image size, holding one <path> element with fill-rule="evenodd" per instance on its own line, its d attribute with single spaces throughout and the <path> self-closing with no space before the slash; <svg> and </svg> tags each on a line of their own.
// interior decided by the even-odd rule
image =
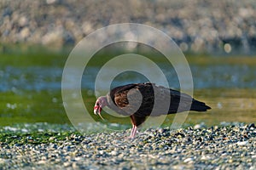
<svg viewBox="0 0 256 170">
<path fill-rule="evenodd" d="M 1 169 L 255 169 L 256 127 L 147 129 L 112 133 L 5 133 Z M 44 139 L 42 139 L 44 138 Z"/>
</svg>

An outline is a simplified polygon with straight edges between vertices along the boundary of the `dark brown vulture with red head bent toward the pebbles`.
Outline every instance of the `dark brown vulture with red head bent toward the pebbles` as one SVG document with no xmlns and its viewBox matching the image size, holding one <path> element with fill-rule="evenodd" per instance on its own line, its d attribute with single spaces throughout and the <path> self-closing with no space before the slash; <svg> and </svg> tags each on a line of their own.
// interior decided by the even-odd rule
<svg viewBox="0 0 256 170">
<path fill-rule="evenodd" d="M 166 103 L 166 100 L 168 103 Z M 155 103 L 157 105 L 154 105 Z M 205 103 L 193 99 L 188 94 L 157 86 L 151 82 L 133 83 L 113 88 L 106 96 L 96 99 L 94 113 L 101 116 L 102 108 L 105 106 L 120 115 L 131 117 L 132 129 L 130 138 L 134 138 L 137 127 L 146 120 L 147 116 L 211 109 Z"/>
</svg>

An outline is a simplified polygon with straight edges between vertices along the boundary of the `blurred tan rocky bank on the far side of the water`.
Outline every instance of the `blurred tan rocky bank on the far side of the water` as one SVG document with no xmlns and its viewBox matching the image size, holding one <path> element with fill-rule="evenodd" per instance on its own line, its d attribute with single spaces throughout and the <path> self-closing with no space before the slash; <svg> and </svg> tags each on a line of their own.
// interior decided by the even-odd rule
<svg viewBox="0 0 256 170">
<path fill-rule="evenodd" d="M 1 43 L 74 45 L 96 29 L 134 22 L 171 36 L 183 51 L 256 49 L 254 1 L 1 0 Z"/>
</svg>

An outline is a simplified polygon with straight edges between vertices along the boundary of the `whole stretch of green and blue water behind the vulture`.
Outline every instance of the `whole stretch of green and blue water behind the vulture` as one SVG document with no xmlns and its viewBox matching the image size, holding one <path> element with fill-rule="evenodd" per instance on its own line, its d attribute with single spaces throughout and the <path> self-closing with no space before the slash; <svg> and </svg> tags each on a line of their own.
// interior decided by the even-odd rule
<svg viewBox="0 0 256 170">
<path fill-rule="evenodd" d="M 61 76 L 67 54 L 58 57 L 46 56 L 31 61 L 5 54 L 0 59 L 0 123 L 2 126 L 26 123 L 49 122 L 70 123 L 62 105 Z M 187 124 L 204 122 L 207 125 L 219 122 L 256 122 L 256 62 L 254 57 L 188 57 L 194 81 L 194 97 L 212 107 L 207 113 L 190 112 Z M 20 65 L 19 65 L 20 59 Z M 25 60 L 28 60 L 27 64 Z M 58 60 L 59 59 L 59 60 Z M 21 62 L 22 60 L 22 62 Z M 44 60 L 44 59 L 43 59 Z M 56 62 L 56 60 L 58 60 Z M 44 65 L 42 64 L 44 63 Z M 45 64 L 46 63 L 46 64 Z M 172 88 L 179 88 L 176 72 L 165 62 L 158 63 Z M 92 112 L 95 102 L 95 78 L 101 65 L 88 65 L 82 78 L 84 104 Z M 116 68 L 108 68 L 109 74 Z M 148 74 L 150 68 L 145 67 Z M 158 77 L 156 77 L 156 80 Z M 116 77 L 112 87 L 131 83 L 147 82 L 148 79 L 136 72 L 125 72 Z M 104 81 L 99 94 L 107 93 Z M 104 115 L 107 122 L 129 125 L 129 118 Z M 100 119 L 92 115 L 93 119 Z M 165 124 L 172 122 L 166 118 Z"/>
</svg>

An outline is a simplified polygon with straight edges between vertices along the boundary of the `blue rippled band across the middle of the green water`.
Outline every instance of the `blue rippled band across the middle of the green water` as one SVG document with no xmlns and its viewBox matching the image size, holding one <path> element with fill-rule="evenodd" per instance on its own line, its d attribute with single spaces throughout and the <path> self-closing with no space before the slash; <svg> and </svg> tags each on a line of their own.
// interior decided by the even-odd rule
<svg viewBox="0 0 256 170">
<path fill-rule="evenodd" d="M 179 88 L 175 71 L 168 71 L 163 66 L 168 81 L 173 88 Z M 192 71 L 194 88 L 254 88 L 256 87 L 256 67 L 247 65 L 190 65 Z M 114 68 L 113 68 L 114 70 Z M 108 69 L 109 74 L 113 71 Z M 60 90 L 63 68 L 28 66 L 17 68 L 6 66 L 0 69 L 0 91 L 7 92 L 14 89 L 23 91 Z M 98 69 L 87 67 L 82 79 L 82 88 L 94 89 L 95 77 Z M 148 70 L 150 74 L 150 70 Z M 136 73 L 126 72 L 121 74 L 113 84 L 115 86 L 131 82 L 146 82 L 147 78 Z M 100 82 L 104 84 L 103 80 Z M 104 86 L 102 86 L 104 87 Z M 107 89 L 107 88 L 106 88 Z"/>
</svg>

